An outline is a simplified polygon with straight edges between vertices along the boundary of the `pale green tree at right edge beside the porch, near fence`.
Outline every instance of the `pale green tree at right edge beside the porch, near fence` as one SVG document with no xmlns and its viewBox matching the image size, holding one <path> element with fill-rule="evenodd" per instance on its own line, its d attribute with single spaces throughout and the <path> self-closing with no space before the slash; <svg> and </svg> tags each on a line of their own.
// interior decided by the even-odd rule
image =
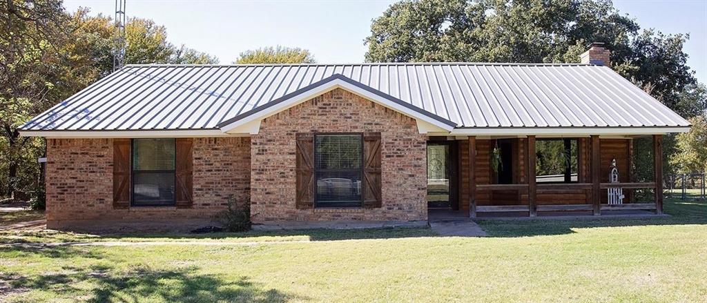
<svg viewBox="0 0 707 303">
<path fill-rule="evenodd" d="M 705 172 L 707 169 L 707 119 L 696 116 L 689 119 L 692 128 L 676 136 L 678 152 L 670 159 L 677 172 Z"/>
</svg>

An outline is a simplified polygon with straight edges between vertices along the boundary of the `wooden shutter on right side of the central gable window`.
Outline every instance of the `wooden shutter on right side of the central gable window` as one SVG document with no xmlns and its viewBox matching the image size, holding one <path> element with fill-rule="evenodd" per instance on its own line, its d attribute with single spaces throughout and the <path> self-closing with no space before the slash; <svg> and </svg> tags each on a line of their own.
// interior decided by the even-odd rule
<svg viewBox="0 0 707 303">
<path fill-rule="evenodd" d="M 363 159 L 363 207 L 380 208 L 380 133 L 363 135 Z"/>
</svg>

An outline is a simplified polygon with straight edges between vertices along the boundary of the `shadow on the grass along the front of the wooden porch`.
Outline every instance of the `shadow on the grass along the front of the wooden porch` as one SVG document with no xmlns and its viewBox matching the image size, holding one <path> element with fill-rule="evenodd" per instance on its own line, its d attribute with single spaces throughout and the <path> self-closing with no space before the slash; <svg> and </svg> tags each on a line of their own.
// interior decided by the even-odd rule
<svg viewBox="0 0 707 303">
<path fill-rule="evenodd" d="M 665 213 L 660 218 L 590 218 L 534 220 L 476 220 L 491 237 L 530 237 L 571 234 L 576 228 L 624 227 L 648 225 L 707 225 L 707 202 L 666 199 Z"/>
</svg>

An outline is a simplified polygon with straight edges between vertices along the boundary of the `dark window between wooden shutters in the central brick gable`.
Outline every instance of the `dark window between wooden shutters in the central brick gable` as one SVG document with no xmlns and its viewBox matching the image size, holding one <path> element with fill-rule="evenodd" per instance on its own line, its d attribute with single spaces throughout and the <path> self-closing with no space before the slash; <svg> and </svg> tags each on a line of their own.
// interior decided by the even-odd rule
<svg viewBox="0 0 707 303">
<path fill-rule="evenodd" d="M 362 206 L 361 134 L 315 136 L 315 206 Z"/>
</svg>

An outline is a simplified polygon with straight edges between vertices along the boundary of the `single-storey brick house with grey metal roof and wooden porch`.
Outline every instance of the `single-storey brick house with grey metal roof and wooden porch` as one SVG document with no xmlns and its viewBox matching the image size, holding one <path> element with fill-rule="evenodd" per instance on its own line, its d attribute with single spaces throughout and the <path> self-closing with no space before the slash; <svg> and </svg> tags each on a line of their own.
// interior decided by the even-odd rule
<svg viewBox="0 0 707 303">
<path fill-rule="evenodd" d="M 28 121 L 47 138 L 47 226 L 426 222 L 662 212 L 661 135 L 689 123 L 583 64 L 129 65 Z M 633 142 L 650 138 L 653 180 Z M 611 179 L 610 176 L 616 176 Z M 620 189 L 620 191 L 619 191 Z"/>
</svg>

